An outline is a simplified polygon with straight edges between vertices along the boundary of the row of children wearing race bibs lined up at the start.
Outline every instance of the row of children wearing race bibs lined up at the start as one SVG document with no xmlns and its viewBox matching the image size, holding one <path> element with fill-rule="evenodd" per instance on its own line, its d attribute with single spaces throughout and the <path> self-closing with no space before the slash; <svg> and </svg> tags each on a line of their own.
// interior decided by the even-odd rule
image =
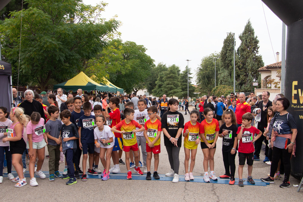
<svg viewBox="0 0 303 202">
<path fill-rule="evenodd" d="M 192 171 L 195 165 L 195 156 L 200 142 L 204 160 L 204 180 L 209 182 L 217 180 L 214 173 L 214 154 L 218 137 L 223 137 L 222 155 L 225 166 L 225 174 L 221 178 L 230 178 L 229 184 L 235 184 L 235 156 L 238 150 L 239 156 L 239 186 L 243 187 L 243 167 L 245 160 L 248 164 L 248 182 L 254 184 L 252 180 L 252 164 L 255 142 L 262 133 L 251 126 L 253 115 L 246 113 L 242 117 L 241 127 L 236 126 L 236 118 L 233 110 L 227 109 L 222 114 L 224 124 L 219 128 L 218 121 L 213 118 L 213 111 L 204 109 L 205 119 L 199 123 L 199 112 L 193 110 L 190 113 L 190 121 L 184 124 L 184 118 L 178 110 L 178 100 L 172 98 L 168 102 L 168 111 L 163 114 L 162 119 L 157 115 L 157 107 L 151 106 L 146 109 L 147 103 L 144 99 L 138 101 L 138 110 L 134 110 L 134 104 L 125 104 L 124 116 L 119 111 L 120 99 L 112 97 L 108 106 L 102 108 L 95 105 L 92 109 L 90 102 L 82 103 L 81 97 L 70 98 L 66 101 L 68 110 L 60 113 L 59 108 L 51 105 L 48 108 L 50 119 L 44 124 L 43 118 L 38 113 L 33 113 L 27 123 L 22 108 L 12 108 L 10 118 L 6 108 L 0 108 L 0 165 L 3 163 L 4 151 L 8 162 L 8 178 L 18 182 L 15 187 L 22 187 L 27 184 L 22 172 L 21 157 L 25 148 L 29 149 L 30 158 L 29 173 L 31 176 L 30 185 L 37 186 L 34 177 L 34 167 L 36 155 L 38 155 L 36 175 L 45 178 L 41 171 L 44 161 L 44 148 L 47 144 L 49 153 L 49 180 L 54 181 L 55 177 L 69 179 L 66 184 L 77 183 L 76 179 L 86 181 L 87 174 L 98 175 L 101 173 L 102 180 L 108 180 L 109 174 L 119 173 L 118 151 L 125 152 L 125 163 L 127 167 L 127 179 L 132 179 L 130 171 L 132 162 L 135 162 L 134 171 L 139 175 L 146 174 L 146 180 L 151 180 L 151 159 L 154 154 L 153 177 L 159 179 L 158 164 L 161 131 L 164 134 L 164 144 L 168 152 L 168 159 L 171 166 L 166 176 L 174 176 L 173 182 L 179 181 L 179 151 L 181 148 L 181 138 L 184 137 L 185 150 L 185 180 L 194 180 Z M 81 109 L 82 108 L 82 109 Z M 109 109 L 110 108 L 110 109 Z M 72 112 L 71 112 L 72 111 Z M 92 111 L 95 115 L 92 115 Z M 102 115 L 103 114 L 103 115 Z M 121 120 L 121 117 L 124 119 Z M 62 124 L 63 123 L 63 124 Z M 23 128 L 27 124 L 28 141 L 23 140 Z M 255 134 L 257 136 L 255 137 Z M 238 145 L 238 140 L 240 143 Z M 8 142 L 10 151 L 8 150 Z M 139 155 L 141 146 L 144 172 L 139 167 Z M 64 152 L 66 165 L 63 175 L 59 173 L 60 151 Z M 139 152 L 138 152 L 139 151 Z M 9 156 L 12 155 L 12 160 Z M 81 171 L 80 157 L 82 156 Z M 110 158 L 112 157 L 114 166 L 110 169 Z M 89 168 L 86 172 L 87 159 Z M 101 172 L 96 172 L 98 160 L 104 167 Z M 188 172 L 189 159 L 191 159 Z M 11 174 L 11 164 L 18 174 L 14 177 Z M 95 164 L 95 167 L 93 167 Z M 208 175 L 208 164 L 210 175 Z M 97 165 L 97 167 L 96 167 Z M 2 167 L 2 166 L 0 166 Z M 0 168 L 0 183 L 2 183 L 2 168 Z"/>
</svg>

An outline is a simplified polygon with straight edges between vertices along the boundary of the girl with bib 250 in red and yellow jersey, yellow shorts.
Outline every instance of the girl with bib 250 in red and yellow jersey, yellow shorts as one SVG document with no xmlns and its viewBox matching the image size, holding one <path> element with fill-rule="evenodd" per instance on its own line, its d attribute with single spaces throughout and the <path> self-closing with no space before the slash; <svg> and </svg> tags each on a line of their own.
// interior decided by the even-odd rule
<svg viewBox="0 0 303 202">
<path fill-rule="evenodd" d="M 184 160 L 185 181 L 194 180 L 194 175 L 192 174 L 192 171 L 194 170 L 194 166 L 195 166 L 197 147 L 201 140 L 201 137 L 199 135 L 199 131 L 200 131 L 199 112 L 195 109 L 192 110 L 190 112 L 190 119 L 191 119 L 190 121 L 184 124 L 184 131 L 183 131 L 184 152 L 185 152 L 185 160 Z M 188 173 L 189 158 L 191 159 L 191 162 L 190 162 L 190 170 Z"/>
</svg>

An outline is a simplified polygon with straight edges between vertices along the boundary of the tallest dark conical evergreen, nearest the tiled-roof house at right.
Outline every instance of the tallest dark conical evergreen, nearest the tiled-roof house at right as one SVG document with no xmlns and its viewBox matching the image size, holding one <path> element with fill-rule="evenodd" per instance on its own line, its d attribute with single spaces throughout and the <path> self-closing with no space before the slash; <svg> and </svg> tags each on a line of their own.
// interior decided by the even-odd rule
<svg viewBox="0 0 303 202">
<path fill-rule="evenodd" d="M 237 88 L 242 92 L 249 92 L 252 88 L 252 82 L 258 81 L 260 75 L 258 69 L 264 66 L 262 56 L 258 55 L 259 40 L 255 36 L 250 20 L 248 20 L 239 38 L 241 44 L 237 50 L 239 57 L 239 64 L 236 69 Z"/>
</svg>

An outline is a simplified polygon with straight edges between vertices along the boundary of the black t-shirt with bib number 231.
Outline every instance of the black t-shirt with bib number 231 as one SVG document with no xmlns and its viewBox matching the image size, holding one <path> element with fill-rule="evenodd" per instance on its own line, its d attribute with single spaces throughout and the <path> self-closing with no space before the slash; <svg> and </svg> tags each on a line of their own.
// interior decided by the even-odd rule
<svg viewBox="0 0 303 202">
<path fill-rule="evenodd" d="M 178 129 L 184 128 L 183 114 L 181 114 L 178 111 L 165 112 L 161 118 L 161 128 L 165 128 L 171 137 L 176 137 Z M 182 135 L 180 135 L 180 137 L 178 139 L 178 143 L 177 143 L 178 147 L 181 147 L 181 144 L 182 144 Z M 168 139 L 168 137 L 166 137 L 166 135 L 164 135 L 164 145 L 165 146 L 174 146 L 174 144 L 172 144 L 171 141 L 169 141 L 169 139 Z"/>
</svg>

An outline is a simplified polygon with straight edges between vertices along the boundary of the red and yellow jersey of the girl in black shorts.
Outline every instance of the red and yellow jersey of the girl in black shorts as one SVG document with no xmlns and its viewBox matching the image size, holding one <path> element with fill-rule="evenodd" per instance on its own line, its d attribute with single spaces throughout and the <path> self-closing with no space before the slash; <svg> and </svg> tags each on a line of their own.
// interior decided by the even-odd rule
<svg viewBox="0 0 303 202">
<path fill-rule="evenodd" d="M 206 137 L 208 143 L 213 143 L 215 141 L 215 132 L 219 131 L 219 122 L 217 119 L 213 118 L 210 123 L 204 119 L 200 124 L 200 133 Z M 204 142 L 201 139 L 201 142 Z"/>
</svg>

